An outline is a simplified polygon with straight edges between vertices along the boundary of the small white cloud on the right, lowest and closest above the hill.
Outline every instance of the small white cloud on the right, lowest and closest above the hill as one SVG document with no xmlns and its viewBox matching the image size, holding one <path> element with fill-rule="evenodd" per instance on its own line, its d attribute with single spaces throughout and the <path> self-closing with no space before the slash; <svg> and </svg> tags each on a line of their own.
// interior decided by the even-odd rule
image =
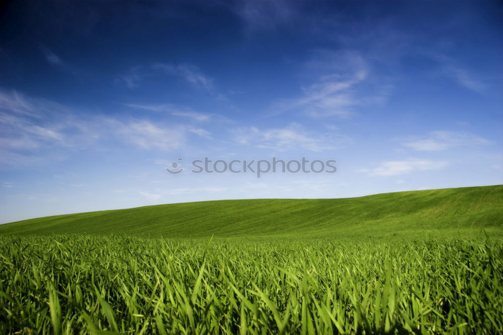
<svg viewBox="0 0 503 335">
<path fill-rule="evenodd" d="M 416 171 L 439 170 L 447 166 L 446 161 L 432 161 L 427 159 L 392 160 L 379 164 L 374 169 L 360 169 L 358 172 L 370 176 L 400 176 Z"/>
</svg>

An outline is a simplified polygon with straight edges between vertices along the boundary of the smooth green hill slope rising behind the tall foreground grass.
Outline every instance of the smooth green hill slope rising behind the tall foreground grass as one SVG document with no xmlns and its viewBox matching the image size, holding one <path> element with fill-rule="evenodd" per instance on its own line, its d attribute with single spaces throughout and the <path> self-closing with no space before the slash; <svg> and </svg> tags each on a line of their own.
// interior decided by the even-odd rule
<svg viewBox="0 0 503 335">
<path fill-rule="evenodd" d="M 48 216 L 0 225 L 0 234 L 144 237 L 386 237 L 501 235 L 503 185 L 346 199 L 222 200 Z"/>
</svg>

